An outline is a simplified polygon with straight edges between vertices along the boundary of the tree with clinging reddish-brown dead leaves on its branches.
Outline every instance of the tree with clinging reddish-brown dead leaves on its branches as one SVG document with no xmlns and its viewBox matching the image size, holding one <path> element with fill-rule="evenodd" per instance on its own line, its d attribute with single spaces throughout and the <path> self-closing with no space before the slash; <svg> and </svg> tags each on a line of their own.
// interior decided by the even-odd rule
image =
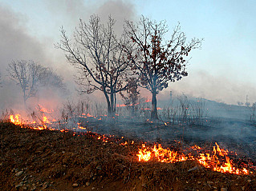
<svg viewBox="0 0 256 191">
<path fill-rule="evenodd" d="M 126 21 L 126 35 L 133 42 L 134 49 L 127 52 L 132 63 L 140 71 L 140 86 L 152 93 L 151 118 L 157 119 L 156 94 L 188 75 L 185 65 L 190 50 L 201 47 L 202 39 L 193 38 L 186 42 L 185 33 L 178 25 L 169 40 L 165 40 L 168 27 L 165 22 L 150 21 L 140 18 L 135 24 Z"/>
</svg>

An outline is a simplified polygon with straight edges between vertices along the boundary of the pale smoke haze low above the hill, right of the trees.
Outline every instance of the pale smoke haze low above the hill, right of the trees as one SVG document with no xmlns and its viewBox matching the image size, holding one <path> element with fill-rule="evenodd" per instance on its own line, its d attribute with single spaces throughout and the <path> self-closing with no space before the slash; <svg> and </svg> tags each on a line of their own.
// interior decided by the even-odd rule
<svg viewBox="0 0 256 191">
<path fill-rule="evenodd" d="M 177 94 L 188 94 L 193 97 L 203 97 L 213 101 L 225 102 L 236 105 L 238 101 L 256 101 L 256 88 L 246 82 L 233 82 L 228 76 L 213 76 L 207 71 L 192 71 L 189 76 L 169 85 L 169 89 L 163 91 L 159 97 L 169 97 L 169 91 Z"/>
</svg>

